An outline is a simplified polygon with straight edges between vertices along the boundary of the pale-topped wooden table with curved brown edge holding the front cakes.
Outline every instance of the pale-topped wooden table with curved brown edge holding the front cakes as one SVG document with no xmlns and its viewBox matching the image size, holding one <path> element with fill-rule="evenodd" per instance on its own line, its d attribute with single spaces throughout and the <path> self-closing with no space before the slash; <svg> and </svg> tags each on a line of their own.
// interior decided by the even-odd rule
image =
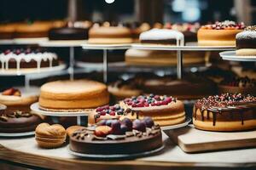
<svg viewBox="0 0 256 170">
<path fill-rule="evenodd" d="M 89 161 L 77 158 L 67 146 L 45 150 L 33 137 L 0 139 L 0 159 L 24 165 L 54 169 L 230 169 L 256 168 L 256 148 L 188 154 L 173 144 L 165 133 L 165 150 L 156 156 L 129 161 Z"/>
</svg>

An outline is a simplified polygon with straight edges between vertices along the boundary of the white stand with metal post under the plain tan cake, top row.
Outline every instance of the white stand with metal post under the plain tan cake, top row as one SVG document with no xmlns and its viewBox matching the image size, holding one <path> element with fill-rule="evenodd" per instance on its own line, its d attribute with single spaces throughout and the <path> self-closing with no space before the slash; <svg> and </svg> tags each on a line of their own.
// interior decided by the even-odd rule
<svg viewBox="0 0 256 170">
<path fill-rule="evenodd" d="M 108 50 L 113 49 L 128 49 L 131 44 L 82 44 L 84 49 L 98 49 L 103 50 L 103 81 L 108 82 Z"/>
</svg>

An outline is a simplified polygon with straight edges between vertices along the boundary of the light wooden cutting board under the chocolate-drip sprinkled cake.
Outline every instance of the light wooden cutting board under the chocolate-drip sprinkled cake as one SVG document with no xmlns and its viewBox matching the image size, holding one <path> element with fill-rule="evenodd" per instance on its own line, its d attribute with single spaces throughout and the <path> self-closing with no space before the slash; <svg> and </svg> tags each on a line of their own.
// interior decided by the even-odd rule
<svg viewBox="0 0 256 170">
<path fill-rule="evenodd" d="M 190 125 L 165 133 L 185 152 L 228 150 L 256 146 L 256 130 L 217 133 L 198 130 Z"/>
</svg>

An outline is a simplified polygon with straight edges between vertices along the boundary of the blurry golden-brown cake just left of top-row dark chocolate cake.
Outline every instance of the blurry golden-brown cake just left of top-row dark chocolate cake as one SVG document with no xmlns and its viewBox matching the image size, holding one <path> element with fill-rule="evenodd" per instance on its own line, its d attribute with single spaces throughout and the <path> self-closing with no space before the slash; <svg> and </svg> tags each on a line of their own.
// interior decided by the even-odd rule
<svg viewBox="0 0 256 170">
<path fill-rule="evenodd" d="M 15 38 L 48 37 L 48 31 L 51 27 L 50 21 L 22 23 L 16 26 Z"/>
</svg>

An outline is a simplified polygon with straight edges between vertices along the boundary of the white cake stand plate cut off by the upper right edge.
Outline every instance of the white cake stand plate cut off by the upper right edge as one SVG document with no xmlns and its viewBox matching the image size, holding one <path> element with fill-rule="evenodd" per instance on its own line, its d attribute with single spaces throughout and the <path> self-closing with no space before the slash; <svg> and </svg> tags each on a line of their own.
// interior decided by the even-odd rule
<svg viewBox="0 0 256 170">
<path fill-rule="evenodd" d="M 224 52 L 219 53 L 219 55 L 224 60 L 256 62 L 256 55 L 255 56 L 238 56 L 238 55 L 236 55 L 236 51 L 224 51 Z"/>
</svg>

